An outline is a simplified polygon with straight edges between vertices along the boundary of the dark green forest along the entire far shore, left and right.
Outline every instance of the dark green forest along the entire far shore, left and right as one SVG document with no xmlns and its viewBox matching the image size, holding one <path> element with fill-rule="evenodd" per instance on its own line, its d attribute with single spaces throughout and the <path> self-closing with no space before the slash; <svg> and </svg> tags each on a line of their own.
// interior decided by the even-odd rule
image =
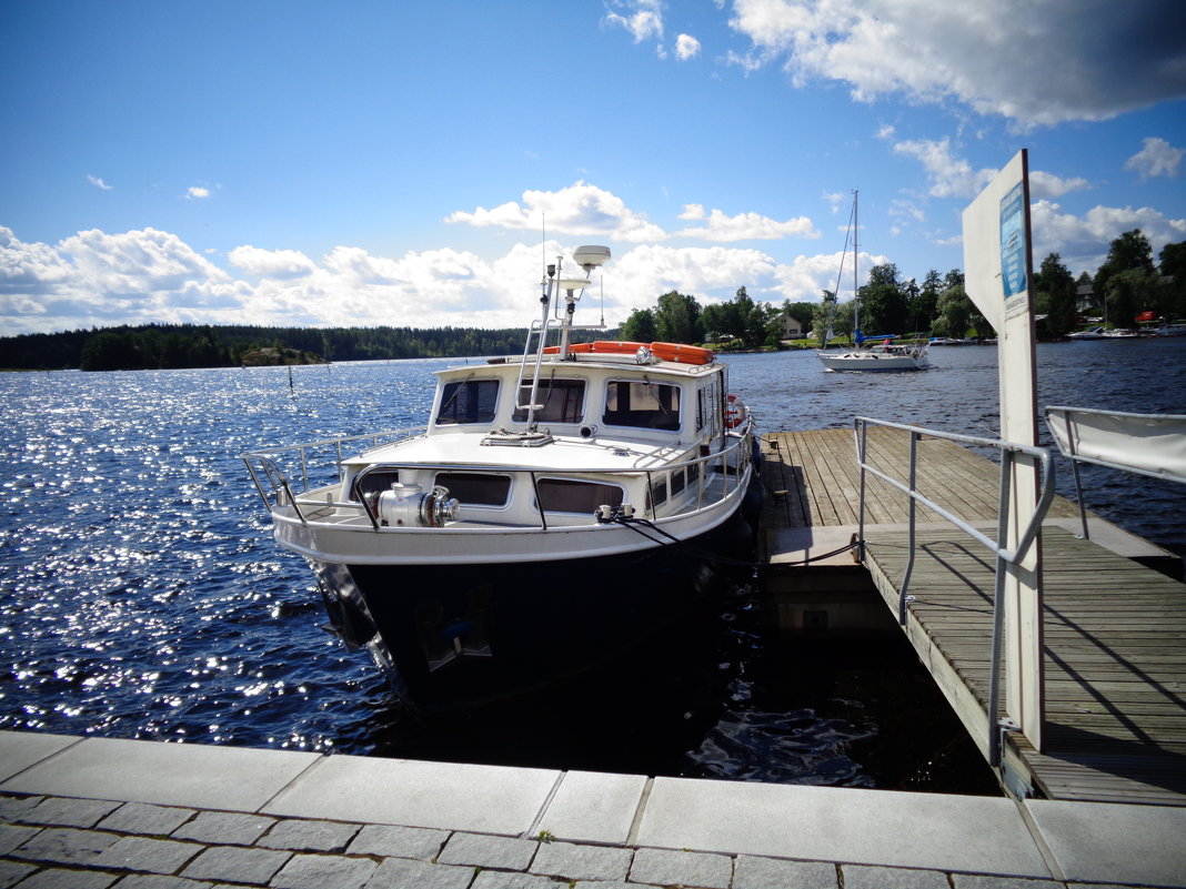
<svg viewBox="0 0 1186 889">
<path fill-rule="evenodd" d="M 1103 319 L 1111 327 L 1135 326 L 1137 315 L 1171 321 L 1186 318 L 1186 241 L 1167 244 L 1153 261 L 1148 238 L 1127 231 L 1109 245 L 1095 275 L 1075 277 L 1058 254 L 1034 271 L 1034 314 L 1040 339 L 1057 339 Z M 874 266 L 860 287 L 866 335 L 991 337 L 994 331 L 964 292 L 959 269 L 931 270 L 918 283 L 903 281 L 894 263 Z M 783 316 L 803 331 L 827 330 L 850 340 L 853 300 L 831 290 L 820 302 L 754 302 L 745 287 L 727 302 L 701 306 L 676 290 L 655 308 L 636 309 L 620 331 L 640 343 L 704 343 L 719 350 L 778 348 Z M 1093 324 L 1093 322 L 1092 322 Z M 157 370 L 236 367 L 243 364 L 314 364 L 393 358 L 461 358 L 522 352 L 524 328 L 472 327 L 260 327 L 251 325 L 152 324 L 26 333 L 0 338 L 0 364 L 12 370 Z"/>
</svg>

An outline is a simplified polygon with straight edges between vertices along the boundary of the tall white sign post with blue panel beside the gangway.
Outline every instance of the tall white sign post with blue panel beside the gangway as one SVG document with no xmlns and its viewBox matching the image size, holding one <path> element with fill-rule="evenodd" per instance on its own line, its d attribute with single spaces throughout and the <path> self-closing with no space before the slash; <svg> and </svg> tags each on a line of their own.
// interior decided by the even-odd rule
<svg viewBox="0 0 1186 889">
<path fill-rule="evenodd" d="M 1029 236 L 1029 168 L 1026 149 L 1010 160 L 963 212 L 964 287 L 997 335 L 1001 437 L 1038 444 L 1038 385 L 1034 353 L 1033 257 Z M 1018 455 L 1002 504 L 1000 545 L 1014 549 L 1039 495 L 1035 460 Z M 1009 565 L 997 593 L 1003 601 L 1005 714 L 1042 749 L 1041 538 Z M 994 652 L 995 653 L 995 652 Z M 995 691 L 995 690 L 994 690 Z M 993 697 L 993 695 L 990 695 Z M 990 703 L 991 706 L 991 703 Z M 993 719 L 996 714 L 989 714 Z M 990 721 L 991 724 L 991 721 Z M 1000 762 L 1000 733 L 989 738 L 991 765 Z M 995 754 L 995 755 L 994 755 Z"/>
</svg>

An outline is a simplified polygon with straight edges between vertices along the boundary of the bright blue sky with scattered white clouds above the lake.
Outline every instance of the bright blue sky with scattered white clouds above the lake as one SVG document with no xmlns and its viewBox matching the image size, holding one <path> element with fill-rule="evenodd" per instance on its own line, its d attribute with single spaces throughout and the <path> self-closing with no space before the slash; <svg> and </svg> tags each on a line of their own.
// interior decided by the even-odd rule
<svg viewBox="0 0 1186 889">
<path fill-rule="evenodd" d="M 1022 148 L 1035 266 L 1186 241 L 1180 0 L 0 0 L 0 59 L 4 335 L 523 327 L 580 244 L 578 322 L 818 301 L 854 191 L 922 282 Z"/>
</svg>

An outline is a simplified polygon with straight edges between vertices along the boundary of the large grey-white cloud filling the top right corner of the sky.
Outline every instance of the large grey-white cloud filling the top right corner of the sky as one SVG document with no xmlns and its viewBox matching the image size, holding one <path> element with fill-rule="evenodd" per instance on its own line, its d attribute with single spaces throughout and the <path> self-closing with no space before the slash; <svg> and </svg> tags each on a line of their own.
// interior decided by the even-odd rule
<svg viewBox="0 0 1186 889">
<path fill-rule="evenodd" d="M 1178 0 L 735 0 L 747 69 L 853 97 L 959 102 L 1021 124 L 1104 120 L 1186 94 Z"/>
</svg>

